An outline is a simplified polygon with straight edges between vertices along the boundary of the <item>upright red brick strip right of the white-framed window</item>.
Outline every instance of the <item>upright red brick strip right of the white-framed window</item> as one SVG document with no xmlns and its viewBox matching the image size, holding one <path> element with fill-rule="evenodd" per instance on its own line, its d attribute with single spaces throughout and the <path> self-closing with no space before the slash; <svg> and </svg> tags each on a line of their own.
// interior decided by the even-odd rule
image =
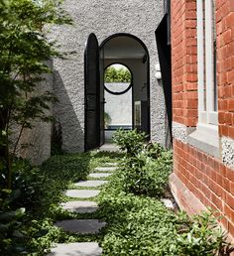
<svg viewBox="0 0 234 256">
<path fill-rule="evenodd" d="M 217 0 L 219 133 L 234 138 L 234 1 Z"/>
</svg>

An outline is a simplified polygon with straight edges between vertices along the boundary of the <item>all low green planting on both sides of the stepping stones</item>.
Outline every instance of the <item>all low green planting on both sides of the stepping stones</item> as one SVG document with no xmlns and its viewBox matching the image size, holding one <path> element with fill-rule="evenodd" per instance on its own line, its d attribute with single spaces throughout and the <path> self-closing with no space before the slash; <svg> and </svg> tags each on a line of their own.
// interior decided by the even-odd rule
<svg viewBox="0 0 234 256">
<path fill-rule="evenodd" d="M 136 136 L 136 131 L 125 136 L 128 140 Z M 58 206 L 66 200 L 65 190 L 86 180 L 95 167 L 108 166 L 110 162 L 117 162 L 119 168 L 107 178 L 108 184 L 95 198 L 99 205 L 96 212 L 75 213 Z M 17 163 L 18 172 L 13 180 L 19 193 L 13 196 L 6 192 L 5 200 L 0 201 L 1 210 L 14 204 L 15 208 L 25 207 L 26 212 L 17 210 L 10 215 L 0 212 L 1 223 L 6 224 L 0 225 L 0 255 L 47 255 L 54 243 L 83 241 L 98 242 L 102 255 L 108 256 L 229 255 L 210 213 L 189 219 L 161 202 L 172 168 L 172 153 L 159 145 L 145 147 L 144 143 L 136 142 L 124 154 L 90 152 L 54 156 L 41 168 L 25 161 Z M 84 218 L 102 219 L 107 226 L 95 235 L 70 234 L 54 226 L 58 220 Z"/>
</svg>

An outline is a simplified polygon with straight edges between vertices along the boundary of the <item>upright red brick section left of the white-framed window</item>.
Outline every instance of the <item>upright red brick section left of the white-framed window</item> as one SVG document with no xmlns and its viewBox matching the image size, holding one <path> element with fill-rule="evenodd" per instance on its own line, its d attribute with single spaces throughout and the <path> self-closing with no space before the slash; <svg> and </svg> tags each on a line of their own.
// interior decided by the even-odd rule
<svg viewBox="0 0 234 256">
<path fill-rule="evenodd" d="M 196 1 L 172 1 L 173 120 L 197 122 Z"/>
</svg>

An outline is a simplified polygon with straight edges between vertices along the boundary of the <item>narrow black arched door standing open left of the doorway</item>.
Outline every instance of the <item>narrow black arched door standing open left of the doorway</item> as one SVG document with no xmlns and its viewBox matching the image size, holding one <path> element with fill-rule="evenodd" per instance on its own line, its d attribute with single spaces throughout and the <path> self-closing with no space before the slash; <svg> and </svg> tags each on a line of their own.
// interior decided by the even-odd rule
<svg viewBox="0 0 234 256">
<path fill-rule="evenodd" d="M 95 34 L 90 34 L 84 53 L 84 148 L 100 145 L 100 69 L 99 46 Z"/>
</svg>

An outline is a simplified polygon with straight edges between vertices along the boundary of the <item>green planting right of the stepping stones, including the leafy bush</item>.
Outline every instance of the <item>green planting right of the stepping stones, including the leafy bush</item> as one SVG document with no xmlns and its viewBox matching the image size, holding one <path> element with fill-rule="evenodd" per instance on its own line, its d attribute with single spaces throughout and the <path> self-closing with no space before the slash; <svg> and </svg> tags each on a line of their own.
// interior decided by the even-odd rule
<svg viewBox="0 0 234 256">
<path fill-rule="evenodd" d="M 126 132 L 124 141 L 128 135 L 136 136 Z M 126 151 L 129 144 L 119 134 L 115 141 Z M 119 170 L 98 196 L 100 214 L 108 222 L 101 241 L 103 255 L 230 255 L 232 248 L 211 212 L 189 218 L 161 201 L 172 169 L 172 153 L 159 145 L 145 147 L 143 136 L 140 144 L 130 141 Z"/>
</svg>

